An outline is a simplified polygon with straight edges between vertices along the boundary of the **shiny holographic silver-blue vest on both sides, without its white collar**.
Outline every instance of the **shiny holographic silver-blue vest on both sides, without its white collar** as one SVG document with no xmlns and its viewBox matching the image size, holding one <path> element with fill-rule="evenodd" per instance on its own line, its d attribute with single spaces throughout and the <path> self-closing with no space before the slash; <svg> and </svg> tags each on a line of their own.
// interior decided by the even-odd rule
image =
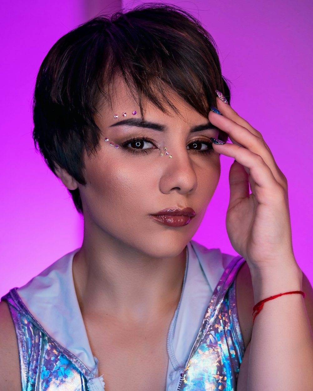
<svg viewBox="0 0 313 391">
<path fill-rule="evenodd" d="M 216 285 L 180 373 L 177 391 L 236 391 L 245 347 L 237 316 L 235 277 L 243 262 L 241 257 L 234 258 Z M 2 300 L 9 305 L 16 329 L 22 391 L 104 390 L 103 378 L 95 377 L 97 368 L 90 371 L 50 337 L 26 308 L 16 288 Z"/>
</svg>

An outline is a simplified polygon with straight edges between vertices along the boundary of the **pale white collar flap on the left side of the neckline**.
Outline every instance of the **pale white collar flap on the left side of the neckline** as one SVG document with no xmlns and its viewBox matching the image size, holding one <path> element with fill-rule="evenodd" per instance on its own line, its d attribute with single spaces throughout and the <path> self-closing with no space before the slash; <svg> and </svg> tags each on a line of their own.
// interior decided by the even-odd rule
<svg viewBox="0 0 313 391">
<path fill-rule="evenodd" d="M 54 262 L 17 292 L 47 333 L 93 371 L 96 364 L 73 279 L 73 258 L 78 250 Z"/>
</svg>

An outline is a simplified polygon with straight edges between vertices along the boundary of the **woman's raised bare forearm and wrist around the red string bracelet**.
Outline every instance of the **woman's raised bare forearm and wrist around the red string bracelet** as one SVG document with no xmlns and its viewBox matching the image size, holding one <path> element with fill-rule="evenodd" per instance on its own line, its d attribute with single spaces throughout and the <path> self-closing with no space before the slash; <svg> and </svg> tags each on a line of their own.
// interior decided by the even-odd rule
<svg viewBox="0 0 313 391">
<path fill-rule="evenodd" d="M 255 304 L 275 294 L 302 291 L 302 271 L 296 262 L 267 273 L 252 271 L 251 276 Z M 247 390 L 313 390 L 312 373 L 313 334 L 303 296 L 266 301 L 252 330 Z"/>
</svg>

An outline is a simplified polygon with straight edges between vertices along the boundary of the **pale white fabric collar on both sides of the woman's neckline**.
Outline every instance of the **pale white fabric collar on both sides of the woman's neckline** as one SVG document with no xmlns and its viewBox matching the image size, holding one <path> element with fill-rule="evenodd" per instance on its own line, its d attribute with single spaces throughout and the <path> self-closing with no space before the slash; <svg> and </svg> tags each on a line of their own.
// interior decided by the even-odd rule
<svg viewBox="0 0 313 391">
<path fill-rule="evenodd" d="M 206 284 L 209 283 L 211 295 L 226 264 L 233 257 L 228 256 L 225 258 L 224 254 L 221 254 L 218 249 L 209 250 L 193 240 L 187 244 L 187 247 L 189 264 L 190 262 L 196 262 L 196 259 L 198 259 L 205 279 L 207 280 Z M 26 285 L 18 289 L 18 294 L 29 309 L 29 312 L 43 326 L 47 333 L 64 348 L 76 355 L 90 371 L 93 371 L 96 368 L 96 363 L 92 355 L 74 287 L 72 265 L 74 255 L 77 251 L 79 249 L 68 253 L 38 276 L 32 278 Z M 199 309 L 197 310 L 200 313 L 196 316 L 195 323 L 198 326 L 194 328 L 189 322 L 189 325 L 184 327 L 186 314 L 182 308 L 190 308 L 191 305 L 193 307 L 196 305 L 197 300 L 192 297 L 191 291 L 194 292 L 195 288 L 198 289 L 196 285 L 197 277 L 190 276 L 190 273 L 188 275 L 188 271 L 184 288 L 185 293 L 183 292 L 182 294 L 181 307 L 178 313 L 177 330 L 175 329 L 174 335 L 173 347 L 175 350 L 179 346 L 184 345 L 181 343 L 178 344 L 178 340 L 182 335 L 188 340 L 191 339 L 191 342 L 193 342 L 193 335 L 198 331 L 202 321 L 201 316 L 203 315 L 203 300 L 200 300 Z M 202 289 L 200 293 L 197 291 L 198 296 L 199 294 L 200 296 L 204 295 L 205 301 L 207 300 L 207 290 Z M 193 317 L 189 316 L 188 318 L 192 319 Z M 190 341 L 188 341 L 187 346 L 189 344 Z M 179 361 L 186 354 L 185 352 L 177 353 Z"/>
</svg>

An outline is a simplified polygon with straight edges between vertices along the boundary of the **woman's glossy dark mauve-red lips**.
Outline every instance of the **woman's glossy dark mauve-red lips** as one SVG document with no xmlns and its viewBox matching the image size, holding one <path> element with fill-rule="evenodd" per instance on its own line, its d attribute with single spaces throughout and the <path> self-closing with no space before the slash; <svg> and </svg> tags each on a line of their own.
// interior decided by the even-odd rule
<svg viewBox="0 0 313 391">
<path fill-rule="evenodd" d="M 170 227 L 182 227 L 189 224 L 195 214 L 192 208 L 167 208 L 151 215 L 151 218 Z"/>
</svg>

